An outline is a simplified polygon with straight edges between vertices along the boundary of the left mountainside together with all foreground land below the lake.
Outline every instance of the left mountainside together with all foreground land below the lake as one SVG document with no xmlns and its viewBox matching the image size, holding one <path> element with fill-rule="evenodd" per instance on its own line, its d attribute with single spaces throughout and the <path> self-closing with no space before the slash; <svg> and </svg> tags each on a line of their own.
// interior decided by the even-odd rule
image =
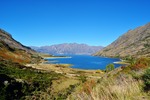
<svg viewBox="0 0 150 100">
<path fill-rule="evenodd" d="M 150 58 L 114 70 L 80 70 L 35 64 L 37 53 L 3 30 L 0 40 L 1 100 L 149 100 Z"/>
</svg>

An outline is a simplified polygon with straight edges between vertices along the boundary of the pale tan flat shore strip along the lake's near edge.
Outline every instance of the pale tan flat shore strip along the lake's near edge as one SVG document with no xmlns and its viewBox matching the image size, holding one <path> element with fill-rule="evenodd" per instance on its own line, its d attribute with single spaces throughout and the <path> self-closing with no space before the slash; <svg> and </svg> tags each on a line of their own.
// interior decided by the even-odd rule
<svg viewBox="0 0 150 100">
<path fill-rule="evenodd" d="M 67 77 L 77 78 L 79 76 L 86 76 L 87 78 L 100 78 L 100 74 L 104 72 L 102 70 L 83 70 L 83 69 L 75 69 L 71 68 L 70 64 L 26 64 L 26 67 L 32 67 L 41 71 L 51 72 L 54 71 L 56 73 L 63 74 Z"/>
</svg>

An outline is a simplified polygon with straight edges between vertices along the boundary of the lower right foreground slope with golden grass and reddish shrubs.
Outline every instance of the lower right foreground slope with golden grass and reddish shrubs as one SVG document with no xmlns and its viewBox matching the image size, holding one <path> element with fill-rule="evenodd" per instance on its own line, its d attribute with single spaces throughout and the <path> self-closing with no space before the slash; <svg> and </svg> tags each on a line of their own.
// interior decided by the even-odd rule
<svg viewBox="0 0 150 100">
<path fill-rule="evenodd" d="M 138 59 L 132 65 L 104 74 L 97 82 L 84 83 L 68 100 L 149 100 L 150 74 L 145 78 L 147 87 L 143 81 L 145 70 L 150 72 L 149 68 L 150 59 Z"/>
</svg>

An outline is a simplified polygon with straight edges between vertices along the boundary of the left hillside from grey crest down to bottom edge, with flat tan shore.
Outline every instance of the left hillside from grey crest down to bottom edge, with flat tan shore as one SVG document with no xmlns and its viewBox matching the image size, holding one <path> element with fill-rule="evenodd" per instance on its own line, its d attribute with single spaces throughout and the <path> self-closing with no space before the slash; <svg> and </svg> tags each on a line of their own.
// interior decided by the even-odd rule
<svg viewBox="0 0 150 100">
<path fill-rule="evenodd" d="M 66 100 L 91 73 L 102 73 L 72 69 L 69 64 L 39 64 L 38 55 L 43 56 L 0 30 L 1 100 Z"/>
</svg>

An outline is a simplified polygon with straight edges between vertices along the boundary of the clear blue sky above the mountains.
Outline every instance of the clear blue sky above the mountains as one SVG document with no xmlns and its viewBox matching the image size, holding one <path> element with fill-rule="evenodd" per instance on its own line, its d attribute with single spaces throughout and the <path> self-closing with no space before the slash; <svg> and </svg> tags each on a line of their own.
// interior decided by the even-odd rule
<svg viewBox="0 0 150 100">
<path fill-rule="evenodd" d="M 0 0 L 0 28 L 27 46 L 107 46 L 150 22 L 150 0 Z"/>
</svg>

